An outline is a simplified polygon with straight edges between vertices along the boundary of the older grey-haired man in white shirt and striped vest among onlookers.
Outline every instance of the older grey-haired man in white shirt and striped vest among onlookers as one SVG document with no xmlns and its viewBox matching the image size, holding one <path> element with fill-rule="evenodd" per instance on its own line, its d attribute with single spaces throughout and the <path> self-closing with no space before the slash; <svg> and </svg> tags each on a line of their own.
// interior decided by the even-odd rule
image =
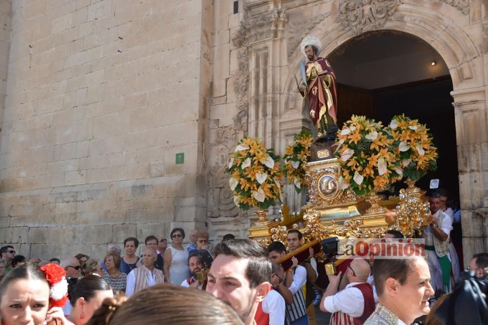
<svg viewBox="0 0 488 325">
<path fill-rule="evenodd" d="M 127 274 L 127 286 L 125 287 L 125 295 L 127 297 L 146 287 L 164 283 L 163 271 L 154 267 L 157 259 L 158 255 L 155 249 L 144 249 L 142 267 L 134 268 Z"/>
</svg>

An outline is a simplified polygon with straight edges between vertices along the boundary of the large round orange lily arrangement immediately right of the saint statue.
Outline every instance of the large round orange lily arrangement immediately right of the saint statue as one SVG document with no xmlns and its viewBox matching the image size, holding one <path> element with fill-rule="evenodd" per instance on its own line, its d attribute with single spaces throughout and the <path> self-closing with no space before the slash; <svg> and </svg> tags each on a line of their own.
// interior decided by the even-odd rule
<svg viewBox="0 0 488 325">
<path fill-rule="evenodd" d="M 352 115 L 337 136 L 341 189 L 350 187 L 356 194 L 366 195 L 383 191 L 402 179 L 403 170 L 393 151 L 393 138 L 381 122 Z"/>
</svg>

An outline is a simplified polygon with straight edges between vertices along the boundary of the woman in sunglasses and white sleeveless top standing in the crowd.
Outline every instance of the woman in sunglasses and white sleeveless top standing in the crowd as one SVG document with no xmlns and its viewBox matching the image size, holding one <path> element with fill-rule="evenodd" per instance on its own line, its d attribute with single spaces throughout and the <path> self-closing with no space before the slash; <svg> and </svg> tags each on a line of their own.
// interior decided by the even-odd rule
<svg viewBox="0 0 488 325">
<path fill-rule="evenodd" d="M 190 276 L 188 251 L 182 245 L 184 230 L 182 228 L 171 230 L 171 239 L 173 245 L 164 252 L 164 282 L 179 286 Z"/>
</svg>

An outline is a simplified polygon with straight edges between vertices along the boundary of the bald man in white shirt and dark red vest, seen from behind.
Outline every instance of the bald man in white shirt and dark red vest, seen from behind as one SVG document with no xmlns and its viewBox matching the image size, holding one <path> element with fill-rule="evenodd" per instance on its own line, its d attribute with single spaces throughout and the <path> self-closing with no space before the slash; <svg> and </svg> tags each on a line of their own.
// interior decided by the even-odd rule
<svg viewBox="0 0 488 325">
<path fill-rule="evenodd" d="M 342 272 L 328 275 L 329 285 L 320 303 L 320 310 L 332 313 L 329 324 L 363 324 L 375 308 L 373 289 L 367 283 L 369 263 L 355 258 L 347 266 L 349 284 L 338 291 Z"/>
</svg>

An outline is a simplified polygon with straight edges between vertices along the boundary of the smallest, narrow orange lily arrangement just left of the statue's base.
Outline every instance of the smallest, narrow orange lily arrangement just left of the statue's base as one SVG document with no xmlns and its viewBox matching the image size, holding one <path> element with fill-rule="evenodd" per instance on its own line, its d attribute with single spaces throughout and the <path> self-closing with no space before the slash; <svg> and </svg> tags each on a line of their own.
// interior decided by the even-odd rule
<svg viewBox="0 0 488 325">
<path fill-rule="evenodd" d="M 305 165 L 310 158 L 310 144 L 312 143 L 312 134 L 308 131 L 302 131 L 295 134 L 295 142 L 285 148 L 285 165 L 283 169 L 286 173 L 286 179 L 289 184 L 293 184 L 295 191 L 300 193 L 302 186 L 306 184 Z"/>
</svg>

